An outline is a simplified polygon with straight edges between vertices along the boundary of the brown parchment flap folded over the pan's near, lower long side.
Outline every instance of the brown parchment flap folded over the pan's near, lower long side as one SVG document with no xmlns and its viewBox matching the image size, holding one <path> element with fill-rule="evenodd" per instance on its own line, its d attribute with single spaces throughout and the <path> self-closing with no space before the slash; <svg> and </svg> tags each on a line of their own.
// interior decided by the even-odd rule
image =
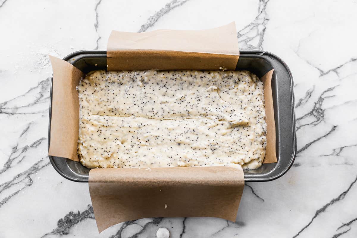
<svg viewBox="0 0 357 238">
<path fill-rule="evenodd" d="M 146 217 L 236 220 L 242 168 L 172 167 L 91 169 L 89 191 L 99 232 Z"/>
</svg>

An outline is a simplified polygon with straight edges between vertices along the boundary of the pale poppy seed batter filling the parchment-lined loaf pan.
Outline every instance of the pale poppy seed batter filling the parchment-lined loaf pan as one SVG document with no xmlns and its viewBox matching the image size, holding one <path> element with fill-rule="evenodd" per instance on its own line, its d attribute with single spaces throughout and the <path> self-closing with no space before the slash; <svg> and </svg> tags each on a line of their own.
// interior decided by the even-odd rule
<svg viewBox="0 0 357 238">
<path fill-rule="evenodd" d="M 79 87 L 88 168 L 261 166 L 263 83 L 248 71 L 93 71 Z"/>
</svg>

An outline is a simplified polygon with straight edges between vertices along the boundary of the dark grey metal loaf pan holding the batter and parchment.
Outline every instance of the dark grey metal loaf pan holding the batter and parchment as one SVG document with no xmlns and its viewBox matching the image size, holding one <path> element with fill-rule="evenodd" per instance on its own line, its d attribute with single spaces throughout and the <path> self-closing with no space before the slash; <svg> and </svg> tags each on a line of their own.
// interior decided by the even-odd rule
<svg viewBox="0 0 357 238">
<path fill-rule="evenodd" d="M 87 73 L 92 70 L 106 69 L 105 50 L 77 51 L 63 60 Z M 276 155 L 278 162 L 263 164 L 260 168 L 245 171 L 246 182 L 271 181 L 281 177 L 292 166 L 296 156 L 295 104 L 293 79 L 288 66 L 279 57 L 266 51 L 241 51 L 236 70 L 249 70 L 262 77 L 274 69 L 272 94 L 276 126 Z M 53 77 L 52 77 L 53 80 Z M 52 80 L 48 146 L 50 145 Z M 49 156 L 52 166 L 63 177 L 75 182 L 88 182 L 89 169 L 81 163 L 67 158 Z"/>
</svg>

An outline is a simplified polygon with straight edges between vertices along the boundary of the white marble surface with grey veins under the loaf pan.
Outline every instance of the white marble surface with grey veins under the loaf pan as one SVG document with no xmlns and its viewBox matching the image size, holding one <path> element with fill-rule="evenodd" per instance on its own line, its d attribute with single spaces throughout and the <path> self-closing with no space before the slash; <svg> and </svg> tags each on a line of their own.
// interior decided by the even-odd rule
<svg viewBox="0 0 357 238">
<path fill-rule="evenodd" d="M 323 3 L 323 4 L 322 4 Z M 0 237 L 357 237 L 356 0 L 0 0 Z M 247 183 L 237 222 L 150 218 L 98 234 L 88 184 L 47 157 L 47 54 L 105 49 L 112 29 L 207 29 L 236 21 L 241 49 L 280 56 L 295 80 L 298 154 Z"/>
</svg>

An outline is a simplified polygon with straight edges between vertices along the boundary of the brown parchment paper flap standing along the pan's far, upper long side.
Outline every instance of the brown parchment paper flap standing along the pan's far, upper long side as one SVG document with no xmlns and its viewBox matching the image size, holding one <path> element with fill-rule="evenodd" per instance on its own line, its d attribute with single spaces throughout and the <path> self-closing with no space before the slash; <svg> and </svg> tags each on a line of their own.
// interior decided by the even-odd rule
<svg viewBox="0 0 357 238">
<path fill-rule="evenodd" d="M 234 70 L 239 58 L 236 25 L 200 31 L 112 31 L 107 70 Z"/>
</svg>

